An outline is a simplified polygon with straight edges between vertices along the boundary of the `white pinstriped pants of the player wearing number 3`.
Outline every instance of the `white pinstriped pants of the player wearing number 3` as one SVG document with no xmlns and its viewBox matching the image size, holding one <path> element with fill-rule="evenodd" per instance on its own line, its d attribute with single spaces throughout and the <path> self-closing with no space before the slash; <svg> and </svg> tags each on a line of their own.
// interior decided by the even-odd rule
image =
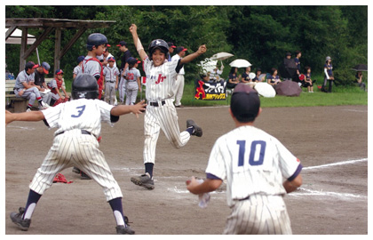
<svg viewBox="0 0 373 240">
<path fill-rule="evenodd" d="M 51 188 L 54 177 L 60 171 L 75 166 L 99 183 L 107 202 L 122 197 L 122 191 L 99 150 L 99 142 L 93 135 L 82 134 L 80 129 L 57 135 L 43 164 L 36 172 L 29 188 L 43 195 Z"/>
</svg>

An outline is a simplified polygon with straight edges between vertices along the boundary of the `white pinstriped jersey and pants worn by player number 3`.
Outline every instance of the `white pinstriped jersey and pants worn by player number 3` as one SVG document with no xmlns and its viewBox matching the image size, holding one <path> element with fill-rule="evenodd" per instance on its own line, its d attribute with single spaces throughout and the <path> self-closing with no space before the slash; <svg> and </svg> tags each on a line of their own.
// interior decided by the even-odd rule
<svg viewBox="0 0 373 240">
<path fill-rule="evenodd" d="M 79 99 L 43 111 L 49 126 L 58 130 L 52 148 L 29 185 L 31 190 L 43 195 L 58 172 L 76 166 L 99 183 L 107 201 L 122 197 L 96 139 L 100 134 L 101 121 L 111 124 L 111 108 L 113 106 L 101 100 Z"/>
</svg>

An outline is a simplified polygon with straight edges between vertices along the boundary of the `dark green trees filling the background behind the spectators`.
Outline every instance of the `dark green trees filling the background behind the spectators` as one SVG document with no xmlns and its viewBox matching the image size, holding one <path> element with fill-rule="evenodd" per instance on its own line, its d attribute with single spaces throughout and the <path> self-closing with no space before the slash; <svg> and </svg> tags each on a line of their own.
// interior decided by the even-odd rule
<svg viewBox="0 0 373 240">
<path fill-rule="evenodd" d="M 120 60 L 115 46 L 124 40 L 134 57 L 139 58 L 132 43 L 129 27 L 136 23 L 139 37 L 146 47 L 151 40 L 162 38 L 194 52 L 206 44 L 208 52 L 198 63 L 217 52 L 230 52 L 224 60 L 225 71 L 234 59 L 249 60 L 251 70 L 269 72 L 278 68 L 286 52 L 302 52 L 302 68 L 309 66 L 313 74 L 322 74 L 325 57 L 333 60 L 334 74 L 343 84 L 351 84 L 357 64 L 368 63 L 368 6 L 5 6 L 6 18 L 52 18 L 71 20 L 115 20 L 111 28 L 89 29 L 61 60 L 66 79 L 72 79 L 76 58 L 86 54 L 86 38 L 93 32 L 107 36 L 109 52 Z M 75 29 L 63 29 L 62 47 L 74 36 Z M 29 28 L 38 36 L 41 30 Z M 65 39 L 65 40 L 64 40 Z M 147 48 L 147 47 L 146 47 Z M 40 60 L 53 64 L 54 36 L 38 47 Z M 6 63 L 18 74 L 20 46 L 6 44 Z M 187 52 L 187 53 L 188 53 Z M 28 60 L 37 61 L 36 54 Z M 53 66 L 52 66 L 53 68 Z M 186 66 L 186 80 L 199 77 L 196 64 Z M 242 69 L 243 71 L 243 69 Z M 302 69 L 303 72 L 303 69 Z"/>
</svg>

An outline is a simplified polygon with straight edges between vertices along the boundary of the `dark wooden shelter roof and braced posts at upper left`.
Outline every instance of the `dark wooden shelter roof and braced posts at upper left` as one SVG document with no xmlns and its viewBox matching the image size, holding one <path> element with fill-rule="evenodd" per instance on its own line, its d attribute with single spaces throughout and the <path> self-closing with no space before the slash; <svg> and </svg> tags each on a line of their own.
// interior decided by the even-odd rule
<svg viewBox="0 0 373 240">
<path fill-rule="evenodd" d="M 25 68 L 26 60 L 28 56 L 36 50 L 36 47 L 41 44 L 46 37 L 50 36 L 52 32 L 55 32 L 55 44 L 54 44 L 54 70 L 60 68 L 60 60 L 66 54 L 66 52 L 75 44 L 76 40 L 88 28 L 109 28 L 110 24 L 115 23 L 115 20 L 66 20 L 66 19 L 5 19 L 5 28 L 9 28 L 5 33 L 5 41 L 8 39 L 16 28 L 22 30 L 21 44 L 20 44 L 20 71 Z M 39 28 L 43 29 L 43 33 L 40 36 L 36 36 L 34 44 L 28 48 L 28 28 Z M 67 42 L 67 44 L 61 49 L 61 31 L 63 29 L 76 28 L 75 35 Z"/>
</svg>

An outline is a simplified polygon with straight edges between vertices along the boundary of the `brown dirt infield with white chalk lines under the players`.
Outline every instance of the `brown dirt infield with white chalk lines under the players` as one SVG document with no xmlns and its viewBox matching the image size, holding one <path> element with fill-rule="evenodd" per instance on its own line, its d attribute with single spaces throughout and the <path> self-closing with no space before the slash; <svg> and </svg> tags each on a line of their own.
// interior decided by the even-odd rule
<svg viewBox="0 0 373 240">
<path fill-rule="evenodd" d="M 204 177 L 217 138 L 234 128 L 228 108 L 180 108 L 203 128 L 202 138 L 180 149 L 161 133 L 155 162 L 155 189 L 131 183 L 144 172 L 143 116 L 122 116 L 112 128 L 103 125 L 100 149 L 123 191 L 124 213 L 139 235 L 221 234 L 226 216 L 225 186 L 200 209 L 185 181 Z M 274 135 L 301 160 L 304 184 L 285 197 L 293 234 L 368 234 L 368 107 L 264 108 L 256 125 Z M 5 234 L 115 234 L 115 220 L 102 189 L 80 180 L 71 169 L 61 172 L 71 184 L 55 183 L 37 204 L 28 232 L 9 214 L 26 204 L 28 184 L 52 145 L 54 130 L 44 123 L 12 123 L 5 143 Z"/>
</svg>

